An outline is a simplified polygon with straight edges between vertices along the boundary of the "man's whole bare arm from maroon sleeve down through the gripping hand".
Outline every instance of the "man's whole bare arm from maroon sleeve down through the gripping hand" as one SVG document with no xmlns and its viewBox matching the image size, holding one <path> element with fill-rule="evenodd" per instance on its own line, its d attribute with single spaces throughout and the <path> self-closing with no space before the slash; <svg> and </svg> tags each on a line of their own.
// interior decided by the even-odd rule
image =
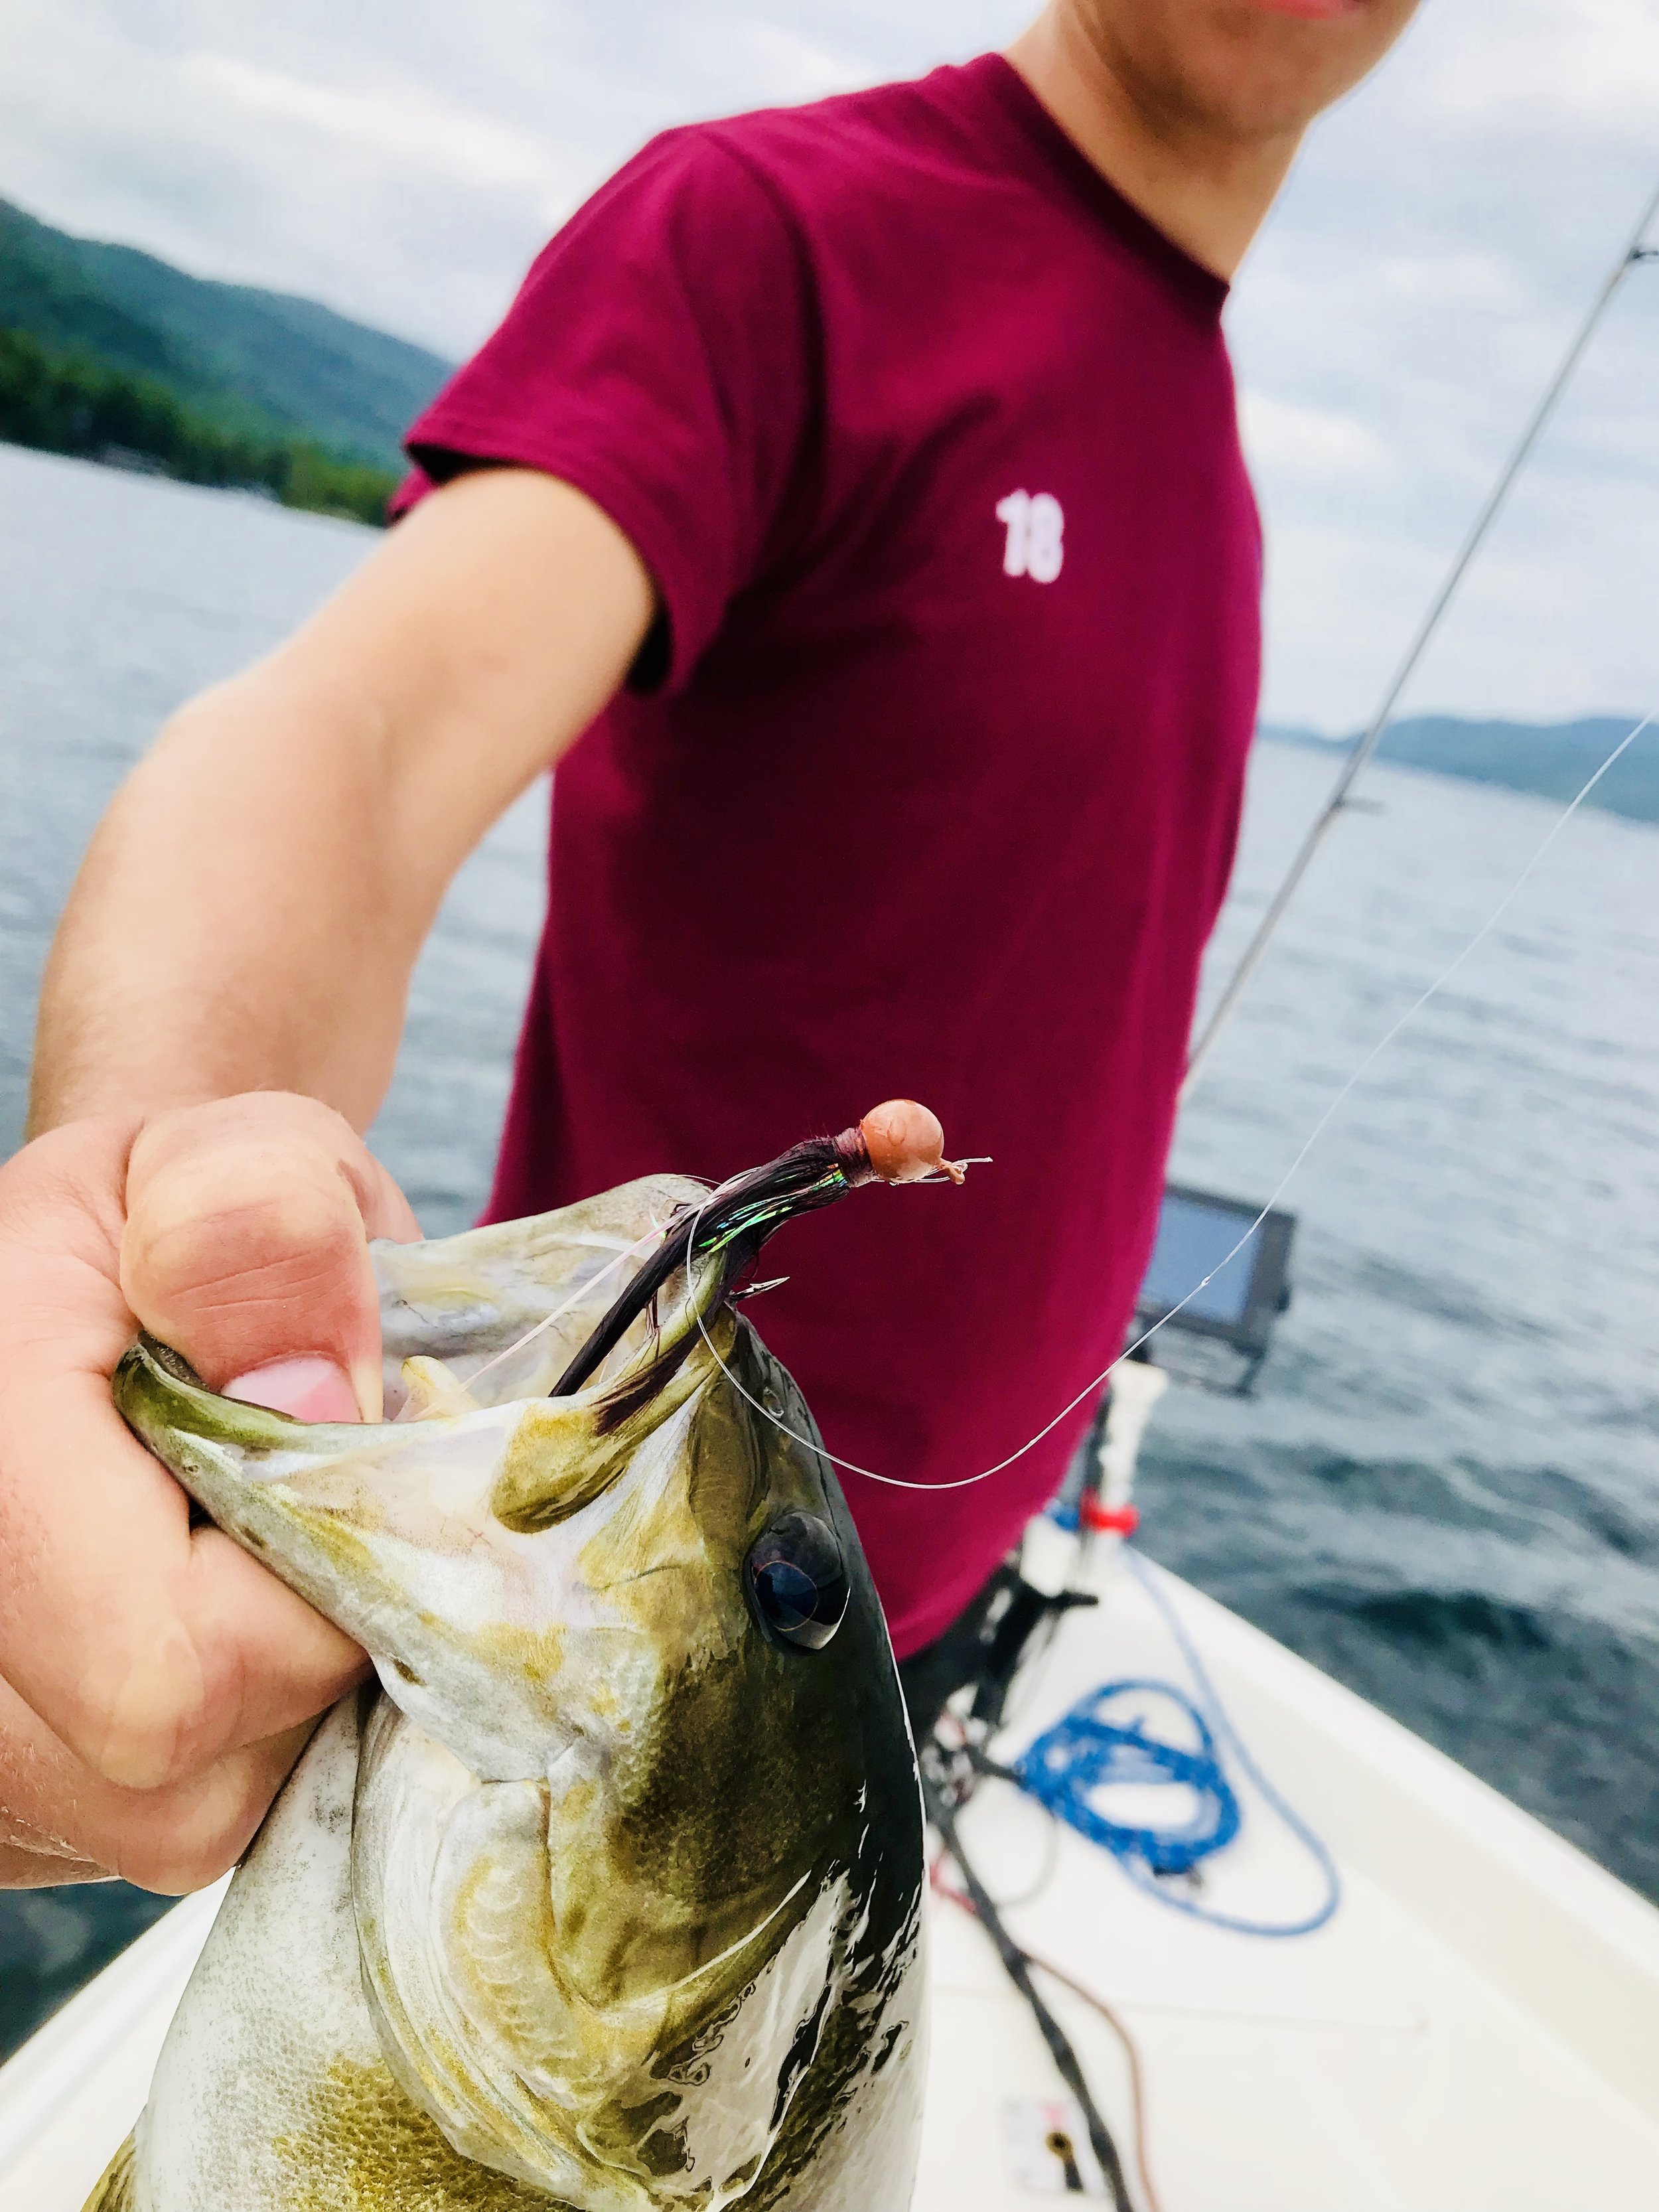
<svg viewBox="0 0 1659 2212">
<path fill-rule="evenodd" d="M 0 1168 L 0 1885 L 210 1880 L 361 1670 L 190 1526 L 108 1376 L 144 1323 L 215 1387 L 378 1411 L 367 1241 L 416 1225 L 356 1130 L 409 969 L 650 608 L 580 493 L 465 478 L 186 708 L 100 830 L 44 991 L 44 1135 Z"/>
</svg>

